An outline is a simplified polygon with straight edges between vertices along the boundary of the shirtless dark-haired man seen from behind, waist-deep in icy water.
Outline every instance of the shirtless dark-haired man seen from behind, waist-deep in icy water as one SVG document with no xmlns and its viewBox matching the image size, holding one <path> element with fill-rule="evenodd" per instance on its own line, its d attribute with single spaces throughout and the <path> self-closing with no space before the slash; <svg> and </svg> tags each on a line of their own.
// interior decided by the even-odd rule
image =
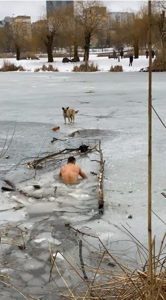
<svg viewBox="0 0 166 300">
<path fill-rule="evenodd" d="M 59 176 L 62 177 L 64 183 L 76 183 L 79 175 L 83 179 L 87 178 L 81 168 L 75 164 L 75 158 L 70 156 L 67 164 L 60 169 Z"/>
</svg>

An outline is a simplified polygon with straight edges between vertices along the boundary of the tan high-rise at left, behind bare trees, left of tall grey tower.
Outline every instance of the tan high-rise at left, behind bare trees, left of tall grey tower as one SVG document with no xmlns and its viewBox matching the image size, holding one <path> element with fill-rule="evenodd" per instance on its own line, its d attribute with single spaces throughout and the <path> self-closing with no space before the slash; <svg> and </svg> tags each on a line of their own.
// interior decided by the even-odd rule
<svg viewBox="0 0 166 300">
<path fill-rule="evenodd" d="M 31 17 L 18 16 L 13 18 L 12 27 L 14 31 L 19 31 L 23 39 L 32 39 Z"/>
</svg>

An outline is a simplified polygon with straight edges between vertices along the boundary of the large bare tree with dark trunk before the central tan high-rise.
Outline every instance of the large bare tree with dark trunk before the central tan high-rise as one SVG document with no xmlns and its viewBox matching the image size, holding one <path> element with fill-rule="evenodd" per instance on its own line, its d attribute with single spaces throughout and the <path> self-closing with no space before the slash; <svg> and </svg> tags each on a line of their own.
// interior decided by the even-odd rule
<svg viewBox="0 0 166 300">
<path fill-rule="evenodd" d="M 91 38 L 103 27 L 99 1 L 77 1 L 76 18 L 84 30 L 84 61 L 88 61 Z"/>
</svg>

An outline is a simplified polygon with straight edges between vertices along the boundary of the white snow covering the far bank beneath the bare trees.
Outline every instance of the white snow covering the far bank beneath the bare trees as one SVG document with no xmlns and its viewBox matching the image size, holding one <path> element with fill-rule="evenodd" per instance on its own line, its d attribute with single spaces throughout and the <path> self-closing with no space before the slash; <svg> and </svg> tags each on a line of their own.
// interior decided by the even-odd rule
<svg viewBox="0 0 166 300">
<path fill-rule="evenodd" d="M 34 72 L 35 69 L 41 68 L 43 64 L 48 65 L 47 58 L 41 58 L 40 60 L 19 60 L 16 59 L 6 59 L 8 61 L 14 62 L 15 65 L 23 66 L 26 71 Z M 4 59 L 0 59 L 0 67 L 3 65 Z M 68 62 L 62 63 L 62 58 L 54 58 L 52 63 L 54 67 L 57 67 L 60 72 L 71 72 L 74 65 L 79 65 L 83 61 L 83 57 L 80 58 L 80 62 Z M 108 57 L 97 57 L 95 54 L 90 54 L 90 62 L 98 64 L 99 70 L 101 72 L 108 72 L 111 65 L 122 65 L 125 72 L 139 72 L 141 68 L 148 67 L 148 59 L 146 56 L 140 56 L 139 59 L 133 60 L 132 67 L 129 67 L 129 59 L 123 59 L 118 62 L 114 59 L 108 59 Z M 19 72 L 19 71 L 18 71 Z M 43 72 L 43 71 L 40 71 Z"/>
</svg>

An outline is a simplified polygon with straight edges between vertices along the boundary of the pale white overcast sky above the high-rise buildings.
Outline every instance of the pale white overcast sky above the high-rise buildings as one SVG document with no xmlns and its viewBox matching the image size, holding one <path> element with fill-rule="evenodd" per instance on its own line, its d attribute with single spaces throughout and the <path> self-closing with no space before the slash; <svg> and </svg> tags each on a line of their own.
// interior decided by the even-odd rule
<svg viewBox="0 0 166 300">
<path fill-rule="evenodd" d="M 148 1 L 102 1 L 111 11 L 136 11 L 140 6 Z M 31 16 L 31 21 L 34 22 L 39 19 L 46 11 L 46 1 L 29 1 L 29 0 L 0 0 L 0 20 L 3 20 L 4 17 L 14 14 L 14 17 L 18 15 L 27 15 Z"/>
</svg>

